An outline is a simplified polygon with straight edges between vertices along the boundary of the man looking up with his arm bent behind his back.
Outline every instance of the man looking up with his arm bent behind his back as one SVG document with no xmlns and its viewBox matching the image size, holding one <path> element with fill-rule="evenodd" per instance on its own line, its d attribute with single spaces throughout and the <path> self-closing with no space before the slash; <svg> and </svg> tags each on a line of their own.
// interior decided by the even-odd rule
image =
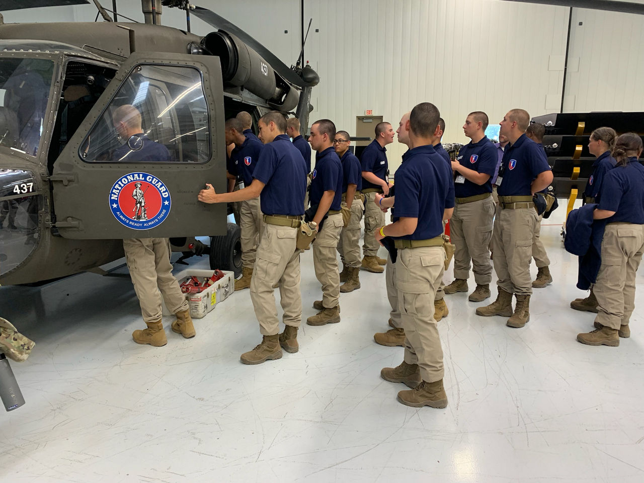
<svg viewBox="0 0 644 483">
<path fill-rule="evenodd" d="M 477 308 L 479 316 L 509 316 L 508 327 L 524 327 L 530 319 L 530 261 L 538 218 L 532 198 L 553 180 L 544 149 L 526 137 L 529 124 L 530 115 L 524 109 L 512 109 L 500 122 L 500 133 L 510 144 L 498 170 L 498 206 L 492 235 L 498 296 L 491 305 Z"/>
</svg>

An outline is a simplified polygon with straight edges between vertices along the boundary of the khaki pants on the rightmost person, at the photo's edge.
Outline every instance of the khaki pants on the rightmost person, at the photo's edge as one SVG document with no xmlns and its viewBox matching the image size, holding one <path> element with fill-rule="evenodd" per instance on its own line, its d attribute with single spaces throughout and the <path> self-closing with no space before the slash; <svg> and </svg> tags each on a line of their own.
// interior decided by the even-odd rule
<svg viewBox="0 0 644 483">
<path fill-rule="evenodd" d="M 598 302 L 595 321 L 619 329 L 635 308 L 635 274 L 644 252 L 644 225 L 606 225 L 601 267 L 592 287 Z"/>
</svg>

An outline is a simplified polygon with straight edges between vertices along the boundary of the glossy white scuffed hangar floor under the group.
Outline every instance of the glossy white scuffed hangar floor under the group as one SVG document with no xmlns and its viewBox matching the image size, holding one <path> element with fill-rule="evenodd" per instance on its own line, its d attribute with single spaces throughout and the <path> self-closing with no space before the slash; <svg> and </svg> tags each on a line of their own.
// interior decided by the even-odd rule
<svg viewBox="0 0 644 483">
<path fill-rule="evenodd" d="M 0 415 L 0 481 L 641 482 L 641 275 L 632 337 L 578 343 L 594 314 L 569 308 L 583 293 L 563 211 L 544 220 L 554 283 L 535 290 L 525 328 L 448 296 L 444 410 L 403 406 L 403 384 L 380 378 L 403 357 L 372 338 L 387 328 L 381 274 L 341 296 L 341 323 L 303 325 L 297 354 L 258 366 L 239 361 L 260 341 L 248 290 L 197 319 L 194 339 L 166 317 L 154 348 L 131 339 L 143 324 L 128 279 L 3 288 L 0 313 L 37 345 L 12 364 L 27 403 Z M 307 317 L 320 292 L 310 251 L 302 267 Z"/>
</svg>

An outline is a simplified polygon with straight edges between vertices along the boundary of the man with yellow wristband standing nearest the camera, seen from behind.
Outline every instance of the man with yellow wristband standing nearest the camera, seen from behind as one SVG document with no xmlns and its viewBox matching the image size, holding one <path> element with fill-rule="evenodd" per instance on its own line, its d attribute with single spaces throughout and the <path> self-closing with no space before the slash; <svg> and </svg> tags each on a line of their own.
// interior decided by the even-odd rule
<svg viewBox="0 0 644 483">
<path fill-rule="evenodd" d="M 381 240 L 391 236 L 398 248 L 396 281 L 406 335 L 403 363 L 384 368 L 381 377 L 414 388 L 399 392 L 398 401 L 416 408 L 444 408 L 448 403 L 433 314 L 445 260 L 442 220 L 451 215 L 454 195 L 451 170 L 432 146 L 439 118 L 438 109 L 430 102 L 412 109 L 406 122 L 410 150 L 403 155 L 395 175 L 394 221 L 375 237 Z"/>
</svg>

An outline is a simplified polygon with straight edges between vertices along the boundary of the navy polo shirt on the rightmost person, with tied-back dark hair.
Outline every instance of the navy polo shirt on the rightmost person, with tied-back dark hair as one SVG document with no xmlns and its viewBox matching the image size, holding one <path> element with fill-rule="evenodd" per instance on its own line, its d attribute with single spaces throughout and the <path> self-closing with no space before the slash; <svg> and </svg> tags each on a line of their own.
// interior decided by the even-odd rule
<svg viewBox="0 0 644 483">
<path fill-rule="evenodd" d="M 644 224 L 644 166 L 638 158 L 633 156 L 626 166 L 606 173 L 600 194 L 598 209 L 615 212 L 607 223 Z"/>
</svg>

